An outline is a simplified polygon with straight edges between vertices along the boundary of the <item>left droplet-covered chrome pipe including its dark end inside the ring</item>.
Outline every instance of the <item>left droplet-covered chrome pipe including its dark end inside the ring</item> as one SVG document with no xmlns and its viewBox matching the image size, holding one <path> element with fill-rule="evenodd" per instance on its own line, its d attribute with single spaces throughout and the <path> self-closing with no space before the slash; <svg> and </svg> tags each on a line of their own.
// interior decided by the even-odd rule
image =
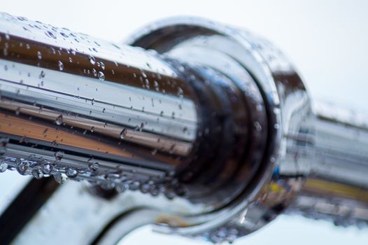
<svg viewBox="0 0 368 245">
<path fill-rule="evenodd" d="M 181 179 L 196 186 L 193 200 L 212 195 L 204 181 L 223 188 L 234 177 L 248 111 L 229 78 L 6 14 L 0 28 L 3 165 L 168 197 L 187 192 Z M 209 162 L 217 169 L 198 176 Z M 208 200 L 208 209 L 239 191 Z"/>
</svg>

